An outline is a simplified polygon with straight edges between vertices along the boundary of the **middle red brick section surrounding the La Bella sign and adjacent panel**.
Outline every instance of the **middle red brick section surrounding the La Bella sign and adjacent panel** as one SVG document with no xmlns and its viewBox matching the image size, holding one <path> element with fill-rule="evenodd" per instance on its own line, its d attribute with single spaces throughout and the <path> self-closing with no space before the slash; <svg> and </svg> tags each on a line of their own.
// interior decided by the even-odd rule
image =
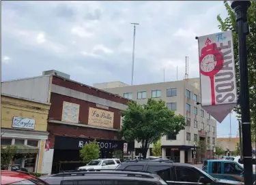
<svg viewBox="0 0 256 185">
<path fill-rule="evenodd" d="M 91 103 L 89 101 L 83 101 L 81 99 L 75 99 L 75 98 L 67 97 L 64 95 L 58 95 L 58 94 L 55 94 L 52 92 L 51 93 L 51 109 L 49 111 L 48 118 L 50 118 L 52 120 L 60 120 L 61 121 L 63 101 L 67 101 L 70 103 L 76 103 L 76 104 L 80 105 L 79 122 L 81 122 L 81 124 L 88 123 L 89 107 L 94 107 L 99 110 L 104 110 L 100 107 L 96 107 L 96 103 Z M 113 107 L 109 107 L 109 110 L 106 110 L 106 111 L 114 113 L 113 129 L 120 129 L 120 124 L 121 124 L 120 110 L 117 110 Z"/>
</svg>

